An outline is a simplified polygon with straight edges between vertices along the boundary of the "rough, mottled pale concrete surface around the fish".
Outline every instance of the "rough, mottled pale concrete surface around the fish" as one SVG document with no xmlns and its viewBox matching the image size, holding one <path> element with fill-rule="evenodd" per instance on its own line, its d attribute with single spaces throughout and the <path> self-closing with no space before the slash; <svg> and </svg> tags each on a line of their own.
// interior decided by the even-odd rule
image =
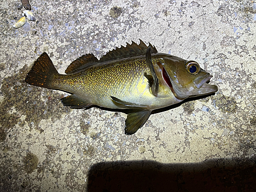
<svg viewBox="0 0 256 192">
<path fill-rule="evenodd" d="M 256 2 L 30 0 L 0 3 L 0 190 L 256 190 Z M 79 56 L 125 42 L 196 60 L 219 91 L 151 115 L 71 110 L 66 93 L 24 81 L 47 52 L 64 74 Z M 198 187 L 198 188 L 197 188 Z"/>
</svg>

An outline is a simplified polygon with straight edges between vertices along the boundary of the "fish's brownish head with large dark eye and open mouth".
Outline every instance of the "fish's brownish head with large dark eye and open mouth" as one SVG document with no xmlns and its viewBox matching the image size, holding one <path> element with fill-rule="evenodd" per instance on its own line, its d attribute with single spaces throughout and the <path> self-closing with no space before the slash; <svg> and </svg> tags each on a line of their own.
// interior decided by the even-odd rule
<svg viewBox="0 0 256 192">
<path fill-rule="evenodd" d="M 201 69 L 196 61 L 187 61 L 166 54 L 166 56 L 158 58 L 157 65 L 162 70 L 164 81 L 178 99 L 186 99 L 218 91 L 217 86 L 208 84 L 212 75 Z"/>
</svg>

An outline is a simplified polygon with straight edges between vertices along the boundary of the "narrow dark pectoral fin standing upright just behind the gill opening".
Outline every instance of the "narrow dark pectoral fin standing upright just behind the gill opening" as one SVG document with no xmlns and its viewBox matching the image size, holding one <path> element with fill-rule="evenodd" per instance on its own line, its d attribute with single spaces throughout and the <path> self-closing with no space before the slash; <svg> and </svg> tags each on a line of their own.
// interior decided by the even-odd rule
<svg viewBox="0 0 256 192">
<path fill-rule="evenodd" d="M 156 72 L 153 67 L 152 60 L 151 60 L 151 51 L 152 51 L 152 48 L 148 47 L 147 51 L 146 51 L 146 62 L 147 62 L 148 67 L 150 68 L 150 72 L 151 72 L 151 74 L 153 76 L 153 80 L 154 80 L 152 87 L 151 87 L 152 94 L 157 96 L 159 82 L 158 82 L 158 78 L 157 78 Z"/>
</svg>

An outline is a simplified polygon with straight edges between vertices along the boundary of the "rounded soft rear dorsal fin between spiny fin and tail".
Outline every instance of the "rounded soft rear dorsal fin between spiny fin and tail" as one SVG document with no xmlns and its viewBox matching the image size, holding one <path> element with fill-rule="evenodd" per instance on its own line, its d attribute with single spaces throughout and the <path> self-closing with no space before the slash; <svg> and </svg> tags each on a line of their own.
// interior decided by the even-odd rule
<svg viewBox="0 0 256 192">
<path fill-rule="evenodd" d="M 74 60 L 66 69 L 66 74 L 78 72 L 84 68 L 95 65 L 99 60 L 93 54 L 82 55 L 78 59 Z"/>
</svg>

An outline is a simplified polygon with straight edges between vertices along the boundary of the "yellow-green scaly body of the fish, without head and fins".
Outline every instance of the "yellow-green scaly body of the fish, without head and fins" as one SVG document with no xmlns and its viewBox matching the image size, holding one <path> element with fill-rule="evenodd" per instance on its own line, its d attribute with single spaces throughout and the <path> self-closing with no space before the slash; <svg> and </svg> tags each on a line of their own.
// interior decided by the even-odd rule
<svg viewBox="0 0 256 192">
<path fill-rule="evenodd" d="M 106 65 L 92 66 L 71 75 L 56 74 L 52 79 L 52 88 L 74 93 L 79 98 L 86 98 L 84 102 L 88 105 L 95 104 L 113 109 L 129 109 L 129 107 L 117 105 L 110 96 L 126 102 L 146 105 L 150 110 L 180 102 L 164 82 L 159 83 L 158 96 L 154 96 L 144 73 L 150 74 L 145 57 L 134 57 L 111 61 Z M 161 75 L 160 71 L 157 73 Z"/>
</svg>

